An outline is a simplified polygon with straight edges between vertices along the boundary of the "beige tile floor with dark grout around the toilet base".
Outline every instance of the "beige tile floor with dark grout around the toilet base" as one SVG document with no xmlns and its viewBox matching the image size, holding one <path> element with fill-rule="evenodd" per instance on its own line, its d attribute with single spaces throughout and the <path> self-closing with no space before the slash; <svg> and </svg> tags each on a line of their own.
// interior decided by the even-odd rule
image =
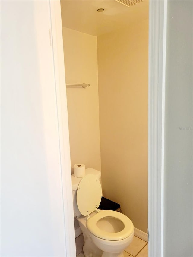
<svg viewBox="0 0 193 257">
<path fill-rule="evenodd" d="M 148 243 L 134 236 L 132 243 L 124 251 L 124 257 L 129 256 L 148 257 Z M 84 253 L 79 253 L 77 257 L 84 257 Z"/>
</svg>

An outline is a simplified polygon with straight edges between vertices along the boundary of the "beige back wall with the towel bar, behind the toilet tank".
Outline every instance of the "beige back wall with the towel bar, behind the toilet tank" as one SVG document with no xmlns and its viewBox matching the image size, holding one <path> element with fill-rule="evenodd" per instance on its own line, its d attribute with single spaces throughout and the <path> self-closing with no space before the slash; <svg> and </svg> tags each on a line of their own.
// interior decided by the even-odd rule
<svg viewBox="0 0 193 257">
<path fill-rule="evenodd" d="M 72 171 L 75 163 L 101 171 L 97 38 L 64 27 L 62 32 L 66 83 L 90 84 L 66 89 Z"/>
</svg>

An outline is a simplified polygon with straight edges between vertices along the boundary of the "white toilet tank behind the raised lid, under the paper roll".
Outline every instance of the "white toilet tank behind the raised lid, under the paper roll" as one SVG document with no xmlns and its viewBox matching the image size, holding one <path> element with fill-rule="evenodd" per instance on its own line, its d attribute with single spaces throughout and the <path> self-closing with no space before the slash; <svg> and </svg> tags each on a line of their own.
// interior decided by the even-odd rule
<svg viewBox="0 0 193 257">
<path fill-rule="evenodd" d="M 101 182 L 101 172 L 97 171 L 92 168 L 87 168 L 85 169 L 85 176 L 88 174 L 93 174 L 95 175 Z M 74 217 L 78 217 L 81 215 L 81 213 L 78 210 L 77 202 L 76 202 L 76 193 L 78 189 L 78 185 L 82 179 L 82 177 L 74 177 L 74 175 L 71 175 L 72 177 L 72 196 L 73 196 L 73 207 L 74 207 Z"/>
</svg>

